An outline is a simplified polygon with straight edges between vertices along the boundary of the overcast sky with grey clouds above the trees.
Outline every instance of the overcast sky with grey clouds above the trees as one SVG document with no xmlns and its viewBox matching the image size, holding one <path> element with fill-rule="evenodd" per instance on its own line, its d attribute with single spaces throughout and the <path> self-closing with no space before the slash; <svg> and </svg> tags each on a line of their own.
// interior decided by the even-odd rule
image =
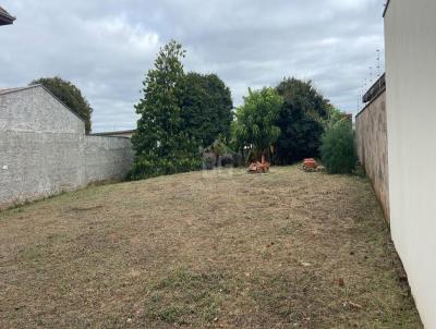
<svg viewBox="0 0 436 329">
<path fill-rule="evenodd" d="M 94 132 L 133 129 L 144 75 L 174 38 L 187 50 L 185 70 L 217 73 L 235 106 L 247 87 L 295 76 L 355 113 L 384 49 L 384 2 L 3 0 L 17 19 L 0 27 L 0 87 L 60 75 L 94 108 Z"/>
</svg>

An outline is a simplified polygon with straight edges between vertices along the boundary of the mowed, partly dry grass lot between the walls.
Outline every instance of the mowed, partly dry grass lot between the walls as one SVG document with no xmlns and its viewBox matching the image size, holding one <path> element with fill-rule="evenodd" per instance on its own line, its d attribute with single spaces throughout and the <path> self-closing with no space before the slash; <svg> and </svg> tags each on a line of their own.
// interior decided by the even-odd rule
<svg viewBox="0 0 436 329">
<path fill-rule="evenodd" d="M 0 328 L 422 328 L 371 185 L 272 168 L 0 212 Z"/>
</svg>

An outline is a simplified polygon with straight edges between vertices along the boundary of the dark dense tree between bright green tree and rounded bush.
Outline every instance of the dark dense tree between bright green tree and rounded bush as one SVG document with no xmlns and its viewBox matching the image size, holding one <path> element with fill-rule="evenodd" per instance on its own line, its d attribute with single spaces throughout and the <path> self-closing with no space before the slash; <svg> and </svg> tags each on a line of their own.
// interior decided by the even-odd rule
<svg viewBox="0 0 436 329">
<path fill-rule="evenodd" d="M 331 105 L 311 81 L 286 78 L 276 89 L 284 101 L 277 120 L 280 136 L 274 161 L 291 164 L 306 157 L 317 157 L 324 133 L 323 121 L 327 120 Z"/>
</svg>

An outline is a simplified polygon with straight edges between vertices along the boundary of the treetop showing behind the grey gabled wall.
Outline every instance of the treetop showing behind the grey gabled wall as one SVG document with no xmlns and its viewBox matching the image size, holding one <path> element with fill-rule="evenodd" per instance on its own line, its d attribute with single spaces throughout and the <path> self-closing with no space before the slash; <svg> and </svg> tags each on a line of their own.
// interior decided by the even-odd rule
<svg viewBox="0 0 436 329">
<path fill-rule="evenodd" d="M 64 81 L 59 76 L 41 77 L 34 80 L 31 85 L 43 85 L 83 121 L 85 121 L 85 132 L 90 133 L 90 114 L 93 109 L 82 92 L 69 81 Z"/>
</svg>

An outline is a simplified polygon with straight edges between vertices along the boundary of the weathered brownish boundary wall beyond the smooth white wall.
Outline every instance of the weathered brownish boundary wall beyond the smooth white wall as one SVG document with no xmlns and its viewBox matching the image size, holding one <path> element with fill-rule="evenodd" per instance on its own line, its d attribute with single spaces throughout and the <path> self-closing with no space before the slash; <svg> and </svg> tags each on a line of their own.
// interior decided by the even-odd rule
<svg viewBox="0 0 436 329">
<path fill-rule="evenodd" d="M 389 221 L 389 169 L 386 122 L 386 93 L 382 92 L 355 118 L 359 160 L 365 168 L 375 194 Z"/>
</svg>

